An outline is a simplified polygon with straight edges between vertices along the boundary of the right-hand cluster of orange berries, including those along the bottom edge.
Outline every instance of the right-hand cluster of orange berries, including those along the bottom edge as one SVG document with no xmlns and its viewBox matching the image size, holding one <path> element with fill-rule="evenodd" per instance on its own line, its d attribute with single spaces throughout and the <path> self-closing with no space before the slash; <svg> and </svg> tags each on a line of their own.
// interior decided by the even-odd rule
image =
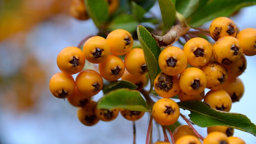
<svg viewBox="0 0 256 144">
<path fill-rule="evenodd" d="M 194 37 L 186 41 L 183 49 L 169 46 L 161 51 L 158 63 L 162 72 L 155 77 L 154 88 L 162 99 L 152 108 L 152 116 L 159 124 L 168 126 L 178 120 L 179 107 L 169 99 L 176 95 L 180 101 L 203 100 L 211 108 L 225 112 L 230 111 L 233 102 L 241 99 L 244 85 L 239 76 L 247 68 L 245 55 L 256 54 L 256 29 L 246 28 L 238 32 L 230 18 L 219 17 L 212 21 L 209 32 L 214 44 Z M 205 94 L 206 88 L 209 91 Z M 178 130 L 179 127 L 174 135 Z M 191 130 L 183 131 L 191 135 L 187 134 Z M 204 144 L 212 144 L 213 140 L 217 140 L 216 144 L 229 144 L 228 141 L 240 139 L 232 137 L 234 130 L 227 126 L 211 126 L 207 132 L 209 135 Z M 175 144 L 201 144 L 193 137 L 178 140 L 175 136 L 174 141 Z"/>
</svg>

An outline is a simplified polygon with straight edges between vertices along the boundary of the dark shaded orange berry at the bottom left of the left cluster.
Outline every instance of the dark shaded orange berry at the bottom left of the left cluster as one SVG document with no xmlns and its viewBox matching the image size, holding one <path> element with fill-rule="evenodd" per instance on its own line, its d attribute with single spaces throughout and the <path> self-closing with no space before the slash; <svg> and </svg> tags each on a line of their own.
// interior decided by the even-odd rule
<svg viewBox="0 0 256 144">
<path fill-rule="evenodd" d="M 77 109 L 78 119 L 82 124 L 86 126 L 93 126 L 100 120 L 94 113 L 95 107 L 96 102 L 90 101 L 85 107 Z"/>
</svg>

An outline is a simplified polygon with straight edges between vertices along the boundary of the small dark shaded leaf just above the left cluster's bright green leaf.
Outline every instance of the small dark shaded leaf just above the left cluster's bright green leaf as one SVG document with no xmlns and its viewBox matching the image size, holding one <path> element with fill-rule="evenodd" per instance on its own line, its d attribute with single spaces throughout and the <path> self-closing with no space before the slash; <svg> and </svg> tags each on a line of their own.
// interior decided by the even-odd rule
<svg viewBox="0 0 256 144">
<path fill-rule="evenodd" d="M 120 88 L 128 88 L 131 90 L 135 90 L 137 88 L 137 85 L 134 85 L 133 83 L 131 83 L 130 81 L 114 81 L 111 82 L 108 85 L 104 85 L 103 87 L 103 93 L 108 93 L 111 90 L 115 90 L 115 89 L 120 89 Z"/>
</svg>

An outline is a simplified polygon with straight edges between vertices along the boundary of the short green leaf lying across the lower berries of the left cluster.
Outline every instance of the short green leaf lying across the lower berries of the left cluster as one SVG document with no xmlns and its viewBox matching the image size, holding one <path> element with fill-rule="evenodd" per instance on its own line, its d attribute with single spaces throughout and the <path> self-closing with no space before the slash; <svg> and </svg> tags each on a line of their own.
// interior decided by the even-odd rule
<svg viewBox="0 0 256 144">
<path fill-rule="evenodd" d="M 113 109 L 124 108 L 133 111 L 146 112 L 146 101 L 137 90 L 126 88 L 112 90 L 105 94 L 98 102 L 97 108 Z"/>
</svg>

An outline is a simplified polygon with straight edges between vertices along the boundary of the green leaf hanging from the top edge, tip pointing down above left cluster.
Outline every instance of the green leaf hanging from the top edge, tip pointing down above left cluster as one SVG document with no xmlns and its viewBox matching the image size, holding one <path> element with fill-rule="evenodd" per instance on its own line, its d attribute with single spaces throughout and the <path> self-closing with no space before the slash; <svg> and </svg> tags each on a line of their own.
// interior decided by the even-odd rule
<svg viewBox="0 0 256 144">
<path fill-rule="evenodd" d="M 109 17 L 109 8 L 107 0 L 84 0 L 87 12 L 96 27 L 101 27 L 101 25 Z"/>
</svg>

